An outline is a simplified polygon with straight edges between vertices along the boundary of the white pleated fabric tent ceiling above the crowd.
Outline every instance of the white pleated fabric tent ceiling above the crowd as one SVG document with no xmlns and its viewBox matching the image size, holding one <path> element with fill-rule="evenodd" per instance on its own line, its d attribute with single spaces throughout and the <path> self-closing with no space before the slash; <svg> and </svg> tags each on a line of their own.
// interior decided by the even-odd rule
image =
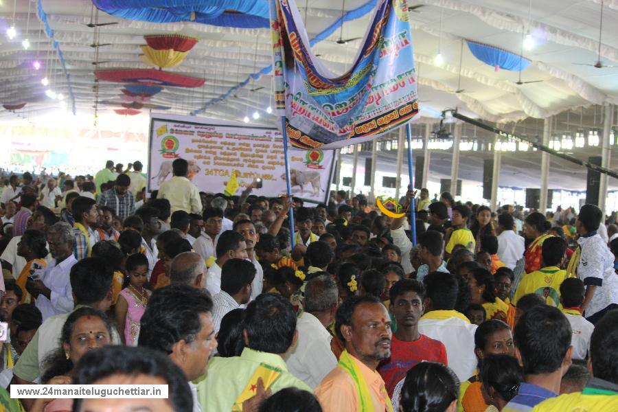
<svg viewBox="0 0 618 412">
<path fill-rule="evenodd" d="M 266 0 L 256 0 L 266 1 Z M 352 10 L 367 0 L 347 0 L 345 9 Z M 0 98 L 4 102 L 25 100 L 27 113 L 58 108 L 58 102 L 45 96 L 38 82 L 47 69 L 56 93 L 69 97 L 69 84 L 58 64 L 58 54 L 51 45 L 36 15 L 38 0 L 30 5 L 30 23 L 27 23 L 29 1 L 17 1 L 15 25 L 19 33 L 14 41 L 0 39 Z M 64 54 L 71 91 L 79 115 L 93 115 L 95 59 L 94 29 L 87 27 L 91 19 L 91 1 L 41 0 L 54 39 Z M 308 9 L 305 5 L 309 4 Z M 463 113 L 493 122 L 507 122 L 526 117 L 547 117 L 568 108 L 618 102 L 618 68 L 573 65 L 573 62 L 594 64 L 597 60 L 599 35 L 599 0 L 419 0 L 422 5 L 411 12 L 415 58 L 419 70 L 419 95 L 425 117 L 435 117 L 447 107 L 459 106 Z M 0 29 L 12 25 L 10 0 L 0 5 Z M 603 44 L 601 60 L 606 65 L 618 65 L 618 32 L 613 30 L 618 21 L 618 1 L 605 1 Z M 321 32 L 341 16 L 341 0 L 299 0 L 301 15 L 307 16 L 310 37 Z M 344 38 L 361 37 L 370 16 L 344 24 Z M 442 20 L 442 31 L 440 21 Z M 201 108 L 212 98 L 225 93 L 271 62 L 269 35 L 266 29 L 245 30 L 215 27 L 197 23 L 147 23 L 127 21 L 104 12 L 99 22 L 117 22 L 100 28 L 98 67 L 144 67 L 139 58 L 139 45 L 146 34 L 181 33 L 196 36 L 200 42 L 187 59 L 174 71 L 205 78 L 198 89 L 166 88 L 155 95 L 152 102 L 172 106 L 172 112 L 187 114 Z M 26 34 L 26 27 L 29 32 Z M 523 34 L 533 32 L 537 45 L 524 56 L 532 65 L 523 71 L 523 80 L 544 80 L 540 83 L 514 84 L 518 73 L 501 70 L 480 62 L 463 48 L 461 56 L 461 88 L 464 93 L 452 93 L 459 78 L 461 41 L 469 39 L 496 47 L 520 52 Z M 21 40 L 29 38 L 32 47 L 24 51 Z M 359 41 L 347 45 L 336 44 L 339 30 L 314 46 L 330 69 L 343 72 L 349 67 Z M 438 47 L 444 56 L 444 65 L 434 62 Z M 32 61 L 43 61 L 43 69 L 36 72 Z M 214 106 L 203 115 L 238 119 L 255 108 L 268 106 L 271 90 L 269 76 L 255 80 L 255 86 L 264 87 L 251 92 L 246 87 Z M 120 84 L 100 82 L 99 100 L 113 100 L 119 94 Z M 71 104 L 69 104 L 69 107 Z M 106 110 L 107 106 L 100 106 Z M 14 115 L 0 112 L 0 118 L 10 120 Z M 268 122 L 263 113 L 262 122 Z"/>
</svg>

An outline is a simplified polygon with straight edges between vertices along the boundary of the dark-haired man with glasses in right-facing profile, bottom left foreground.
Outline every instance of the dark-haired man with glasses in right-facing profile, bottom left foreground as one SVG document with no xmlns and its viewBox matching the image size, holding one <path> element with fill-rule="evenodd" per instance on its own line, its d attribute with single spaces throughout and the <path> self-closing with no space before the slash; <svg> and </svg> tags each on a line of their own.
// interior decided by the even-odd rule
<svg viewBox="0 0 618 412">
<path fill-rule="evenodd" d="M 155 290 L 141 317 L 138 345 L 163 352 L 182 369 L 192 391 L 193 411 L 201 411 L 191 381 L 206 373 L 210 354 L 217 348 L 212 300 L 203 290 L 183 284 Z"/>
</svg>

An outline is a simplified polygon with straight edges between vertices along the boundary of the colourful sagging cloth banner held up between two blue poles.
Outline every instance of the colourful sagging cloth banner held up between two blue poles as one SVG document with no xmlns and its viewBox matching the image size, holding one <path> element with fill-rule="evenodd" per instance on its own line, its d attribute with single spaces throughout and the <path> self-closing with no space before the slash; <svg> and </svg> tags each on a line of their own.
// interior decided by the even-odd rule
<svg viewBox="0 0 618 412">
<path fill-rule="evenodd" d="M 290 144 L 334 149 L 362 143 L 418 115 L 406 0 L 380 0 L 347 73 L 331 73 L 311 51 L 294 0 L 271 0 L 275 108 Z"/>
</svg>

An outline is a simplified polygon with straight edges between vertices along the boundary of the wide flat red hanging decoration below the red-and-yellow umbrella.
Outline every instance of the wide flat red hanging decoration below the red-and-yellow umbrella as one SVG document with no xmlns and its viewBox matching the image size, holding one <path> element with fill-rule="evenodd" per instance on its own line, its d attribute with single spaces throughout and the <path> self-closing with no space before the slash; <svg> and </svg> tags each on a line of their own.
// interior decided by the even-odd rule
<svg viewBox="0 0 618 412">
<path fill-rule="evenodd" d="M 155 69 L 106 69 L 95 71 L 99 80 L 119 83 L 143 83 L 148 86 L 201 87 L 205 80 Z"/>
</svg>

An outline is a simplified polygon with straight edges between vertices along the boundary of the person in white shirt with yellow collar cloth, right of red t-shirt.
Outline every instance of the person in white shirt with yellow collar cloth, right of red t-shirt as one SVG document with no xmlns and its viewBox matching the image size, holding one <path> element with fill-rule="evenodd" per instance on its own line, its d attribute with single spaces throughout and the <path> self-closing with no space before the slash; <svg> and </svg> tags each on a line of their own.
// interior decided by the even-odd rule
<svg viewBox="0 0 618 412">
<path fill-rule="evenodd" d="M 459 286 L 450 273 L 433 272 L 423 279 L 426 288 L 425 314 L 418 322 L 418 331 L 444 343 L 448 367 L 461 382 L 474 375 L 477 357 L 474 356 L 474 332 L 468 318 L 454 310 Z"/>
</svg>

